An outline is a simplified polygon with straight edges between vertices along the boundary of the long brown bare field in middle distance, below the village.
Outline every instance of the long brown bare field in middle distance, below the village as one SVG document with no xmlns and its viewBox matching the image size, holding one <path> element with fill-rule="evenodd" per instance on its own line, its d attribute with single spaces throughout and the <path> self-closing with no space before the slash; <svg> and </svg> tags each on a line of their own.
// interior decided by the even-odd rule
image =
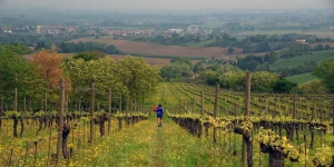
<svg viewBox="0 0 334 167">
<path fill-rule="evenodd" d="M 147 42 L 136 42 L 129 40 L 115 40 L 112 37 L 101 37 L 95 39 L 94 37 L 79 38 L 70 40 L 70 42 L 86 42 L 94 41 L 106 45 L 114 45 L 117 49 L 126 53 L 145 55 L 145 56 L 183 56 L 183 57 L 204 57 L 212 58 L 213 56 L 217 59 L 225 58 L 223 56 L 227 48 L 220 47 L 180 47 L 180 46 L 163 46 Z M 242 53 L 242 48 L 235 48 L 235 55 Z M 233 55 L 230 55 L 233 56 Z"/>
</svg>

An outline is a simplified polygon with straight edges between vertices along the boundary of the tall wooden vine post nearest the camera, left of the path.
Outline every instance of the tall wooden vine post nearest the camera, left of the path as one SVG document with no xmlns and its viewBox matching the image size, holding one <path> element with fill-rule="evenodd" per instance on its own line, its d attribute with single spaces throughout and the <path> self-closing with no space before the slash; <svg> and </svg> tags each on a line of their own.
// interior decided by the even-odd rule
<svg viewBox="0 0 334 167">
<path fill-rule="evenodd" d="M 60 166 L 60 155 L 62 148 L 62 126 L 63 126 L 63 110 L 65 110 L 65 81 L 60 80 L 60 110 L 58 112 L 58 140 L 57 140 L 57 161 L 56 166 Z"/>
</svg>

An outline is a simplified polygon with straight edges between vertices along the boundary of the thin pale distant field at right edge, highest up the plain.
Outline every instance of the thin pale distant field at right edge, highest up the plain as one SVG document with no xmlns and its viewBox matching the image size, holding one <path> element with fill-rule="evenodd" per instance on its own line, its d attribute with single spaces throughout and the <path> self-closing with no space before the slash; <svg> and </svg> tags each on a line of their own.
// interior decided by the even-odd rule
<svg viewBox="0 0 334 167">
<path fill-rule="evenodd" d="M 247 37 L 247 36 L 255 36 L 255 35 L 268 35 L 268 36 L 273 36 L 273 35 L 284 35 L 284 33 L 299 33 L 299 35 L 315 35 L 320 38 L 334 38 L 334 32 L 333 31 L 322 31 L 322 30 L 317 30 L 317 31 L 303 31 L 297 30 L 297 29 L 276 29 L 276 30 L 268 30 L 268 31 L 243 31 L 243 32 L 238 32 L 238 33 L 230 33 L 230 36 L 234 37 Z"/>
</svg>

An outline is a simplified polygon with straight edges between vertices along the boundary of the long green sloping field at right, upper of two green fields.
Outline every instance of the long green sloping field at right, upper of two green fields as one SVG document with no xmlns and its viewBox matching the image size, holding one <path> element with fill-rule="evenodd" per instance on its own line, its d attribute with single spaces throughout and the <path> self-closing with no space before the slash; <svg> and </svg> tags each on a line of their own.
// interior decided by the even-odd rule
<svg viewBox="0 0 334 167">
<path fill-rule="evenodd" d="M 313 55 L 304 55 L 294 58 L 282 59 L 281 61 L 272 65 L 271 70 L 274 70 L 278 67 L 297 67 L 299 65 L 303 65 L 306 61 L 316 61 L 318 63 L 326 59 L 334 59 L 333 50 L 313 51 L 312 53 Z"/>
</svg>

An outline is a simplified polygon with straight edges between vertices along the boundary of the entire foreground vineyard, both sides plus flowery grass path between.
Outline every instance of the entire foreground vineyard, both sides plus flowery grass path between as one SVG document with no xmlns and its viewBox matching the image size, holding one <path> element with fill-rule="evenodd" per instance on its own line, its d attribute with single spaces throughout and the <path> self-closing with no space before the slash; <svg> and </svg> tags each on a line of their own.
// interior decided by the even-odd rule
<svg viewBox="0 0 334 167">
<path fill-rule="evenodd" d="M 4 110 L 0 166 L 333 166 L 333 95 L 158 90 L 145 104 L 105 94 L 105 104 L 91 96 L 90 110 L 66 98 L 57 111 Z M 163 127 L 150 109 L 158 102 Z"/>
</svg>

